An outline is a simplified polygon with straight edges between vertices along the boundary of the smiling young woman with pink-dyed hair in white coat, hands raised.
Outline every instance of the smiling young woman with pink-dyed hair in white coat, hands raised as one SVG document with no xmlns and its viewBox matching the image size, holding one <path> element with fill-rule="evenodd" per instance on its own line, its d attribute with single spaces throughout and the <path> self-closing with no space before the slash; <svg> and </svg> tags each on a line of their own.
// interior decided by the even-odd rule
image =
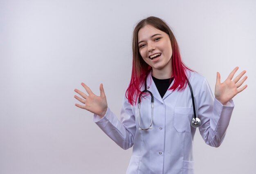
<svg viewBox="0 0 256 174">
<path fill-rule="evenodd" d="M 94 113 L 96 124 L 121 148 L 133 146 L 127 174 L 193 174 L 194 127 L 199 126 L 205 143 L 220 146 L 234 108 L 232 98 L 247 87 L 240 87 L 247 79 L 241 79 L 245 70 L 233 78 L 234 68 L 223 83 L 217 73 L 214 97 L 207 80 L 182 62 L 172 31 L 156 17 L 137 24 L 132 52 L 121 121 L 108 108 L 102 84 L 96 96 L 82 83 L 88 94 L 75 89 L 81 97 L 74 97 L 83 103 L 75 105 Z"/>
</svg>

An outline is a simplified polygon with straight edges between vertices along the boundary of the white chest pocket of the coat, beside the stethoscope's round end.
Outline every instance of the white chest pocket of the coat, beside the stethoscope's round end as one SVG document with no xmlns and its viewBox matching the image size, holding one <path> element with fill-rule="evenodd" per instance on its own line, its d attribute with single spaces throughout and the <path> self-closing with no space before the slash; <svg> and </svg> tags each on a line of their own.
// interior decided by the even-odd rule
<svg viewBox="0 0 256 174">
<path fill-rule="evenodd" d="M 189 133 L 190 121 L 193 117 L 193 108 L 175 107 L 174 128 L 180 133 Z"/>
</svg>

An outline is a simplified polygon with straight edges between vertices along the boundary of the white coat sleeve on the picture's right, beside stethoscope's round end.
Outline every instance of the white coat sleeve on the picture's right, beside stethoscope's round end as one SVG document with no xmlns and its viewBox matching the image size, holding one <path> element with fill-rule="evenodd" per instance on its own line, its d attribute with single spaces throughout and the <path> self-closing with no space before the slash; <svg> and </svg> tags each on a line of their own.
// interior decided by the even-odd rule
<svg viewBox="0 0 256 174">
<path fill-rule="evenodd" d="M 207 80 L 204 79 L 198 101 L 198 118 L 201 120 L 200 134 L 205 143 L 219 147 L 229 126 L 234 109 L 233 100 L 231 99 L 227 106 L 223 106 L 220 101 L 213 97 L 211 88 Z"/>
</svg>

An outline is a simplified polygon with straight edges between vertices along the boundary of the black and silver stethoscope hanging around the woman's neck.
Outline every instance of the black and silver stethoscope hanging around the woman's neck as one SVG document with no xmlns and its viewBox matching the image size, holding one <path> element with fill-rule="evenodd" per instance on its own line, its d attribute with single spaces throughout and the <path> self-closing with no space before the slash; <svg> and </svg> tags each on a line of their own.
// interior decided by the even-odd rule
<svg viewBox="0 0 256 174">
<path fill-rule="evenodd" d="M 154 96 L 153 94 L 147 90 L 147 78 L 145 78 L 145 90 L 142 91 L 140 94 L 139 94 L 139 101 L 138 101 L 138 108 L 139 108 L 139 130 L 148 130 L 148 129 L 152 129 L 152 123 L 153 123 L 153 108 L 154 108 Z M 192 87 L 189 83 L 189 79 L 186 78 L 186 81 L 188 82 L 189 84 L 189 88 L 190 88 L 190 93 L 191 93 L 191 98 L 192 98 L 192 104 L 193 104 L 193 111 L 194 111 L 194 117 L 191 119 L 191 126 L 193 126 L 194 128 L 198 128 L 200 125 L 201 125 L 201 121 L 199 118 L 196 117 L 196 114 L 195 114 L 195 101 L 194 101 L 194 95 L 193 95 L 193 90 L 192 90 Z M 149 93 L 151 95 L 151 103 L 152 103 L 152 110 L 151 110 L 151 121 L 150 121 L 150 126 L 148 128 L 141 128 L 141 125 L 140 125 L 140 97 L 143 93 Z"/>
</svg>

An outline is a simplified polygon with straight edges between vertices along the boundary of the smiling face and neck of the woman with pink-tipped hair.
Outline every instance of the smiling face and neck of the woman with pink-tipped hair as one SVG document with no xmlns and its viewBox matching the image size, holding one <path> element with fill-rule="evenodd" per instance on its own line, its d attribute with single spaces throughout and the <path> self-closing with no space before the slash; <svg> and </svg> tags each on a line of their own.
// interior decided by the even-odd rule
<svg viewBox="0 0 256 174">
<path fill-rule="evenodd" d="M 152 67 L 153 76 L 171 77 L 172 47 L 168 34 L 151 25 L 145 25 L 138 32 L 139 53 L 144 61 Z M 157 77 L 158 76 L 158 77 Z"/>
</svg>

